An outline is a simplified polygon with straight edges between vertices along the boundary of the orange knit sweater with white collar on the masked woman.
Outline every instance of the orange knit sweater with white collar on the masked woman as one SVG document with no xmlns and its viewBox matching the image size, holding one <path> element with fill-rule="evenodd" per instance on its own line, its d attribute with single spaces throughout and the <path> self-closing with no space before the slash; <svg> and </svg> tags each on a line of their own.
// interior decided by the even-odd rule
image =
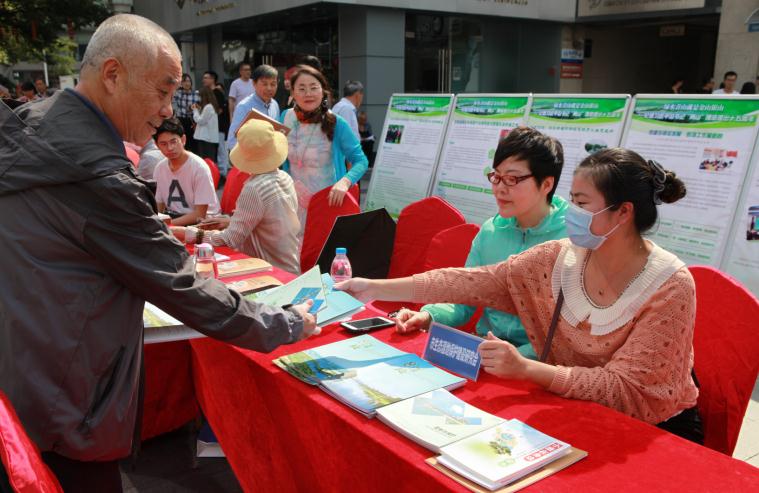
<svg viewBox="0 0 759 493">
<path fill-rule="evenodd" d="M 696 295 L 688 269 L 654 245 L 641 275 L 613 305 L 598 308 L 581 285 L 586 254 L 565 239 L 491 266 L 417 274 L 413 301 L 514 313 L 541 354 L 561 288 L 565 303 L 547 361 L 558 372 L 549 391 L 652 424 L 693 407 Z"/>
</svg>

